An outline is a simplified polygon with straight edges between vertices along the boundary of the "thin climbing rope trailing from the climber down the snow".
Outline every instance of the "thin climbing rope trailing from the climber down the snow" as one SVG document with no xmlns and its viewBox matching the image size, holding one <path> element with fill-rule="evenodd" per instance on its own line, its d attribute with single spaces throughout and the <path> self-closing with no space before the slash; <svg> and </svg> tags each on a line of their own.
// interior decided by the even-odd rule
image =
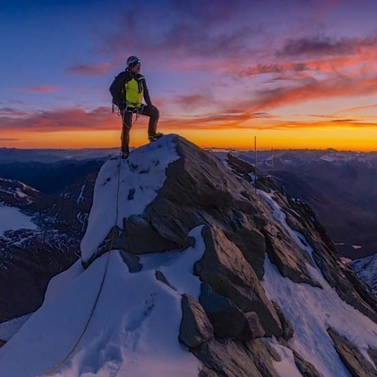
<svg viewBox="0 0 377 377">
<path fill-rule="evenodd" d="M 110 247 L 109 247 L 109 250 L 108 250 L 108 258 L 106 260 L 106 266 L 105 266 L 105 270 L 104 270 L 104 275 L 102 276 L 101 284 L 99 285 L 99 290 L 98 290 L 98 293 L 97 293 L 97 297 L 95 297 L 95 302 L 93 304 L 93 308 L 90 311 L 90 315 L 88 317 L 88 321 L 86 321 L 86 325 L 84 327 L 84 330 L 82 330 L 82 333 L 81 333 L 80 337 L 78 337 L 76 343 L 73 345 L 73 347 L 71 348 L 71 350 L 66 354 L 66 356 L 64 356 L 64 358 L 62 359 L 62 361 L 60 361 L 60 363 L 58 363 L 58 365 L 56 365 L 56 367 L 53 367 L 53 368 L 49 369 L 49 371 L 45 374 L 46 376 L 52 376 L 53 374 L 55 374 L 56 372 L 58 372 L 58 370 L 62 367 L 62 365 L 69 359 L 69 357 L 71 356 L 71 354 L 73 354 L 73 352 L 75 352 L 75 350 L 77 348 L 77 345 L 79 345 L 80 341 L 82 340 L 82 338 L 84 337 L 84 335 L 86 333 L 86 330 L 88 329 L 90 320 L 92 319 L 93 314 L 95 312 L 95 308 L 97 306 L 97 303 L 98 303 L 98 300 L 99 300 L 99 296 L 101 295 L 101 291 L 104 288 L 104 282 L 105 282 L 105 279 L 106 279 L 106 274 L 108 272 L 108 264 L 109 264 L 109 260 L 110 260 L 110 252 L 112 250 L 112 245 L 114 245 L 115 234 L 117 234 L 117 223 L 118 223 L 118 217 L 119 217 L 119 186 L 120 186 L 120 181 L 121 181 L 120 178 L 121 178 L 121 151 L 119 151 L 119 169 L 118 169 L 118 184 L 117 184 L 117 210 L 116 210 L 116 218 L 115 218 L 114 228 L 112 228 L 112 235 L 111 235 L 111 239 L 110 239 Z"/>
</svg>

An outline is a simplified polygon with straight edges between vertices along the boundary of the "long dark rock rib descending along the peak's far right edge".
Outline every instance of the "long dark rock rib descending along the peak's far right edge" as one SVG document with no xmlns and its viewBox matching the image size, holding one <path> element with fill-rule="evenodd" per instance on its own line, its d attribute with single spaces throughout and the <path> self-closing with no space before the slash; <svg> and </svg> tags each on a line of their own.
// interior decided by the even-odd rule
<svg viewBox="0 0 377 377">
<path fill-rule="evenodd" d="M 335 245 L 328 233 L 317 221 L 315 213 L 303 202 L 289 202 L 295 212 L 287 213 L 287 223 L 292 229 L 304 234 L 313 247 L 313 258 L 324 278 L 335 288 L 342 300 L 367 315 L 377 323 L 377 301 L 350 267 L 341 263 Z M 297 215 L 294 215 L 294 214 Z"/>
</svg>

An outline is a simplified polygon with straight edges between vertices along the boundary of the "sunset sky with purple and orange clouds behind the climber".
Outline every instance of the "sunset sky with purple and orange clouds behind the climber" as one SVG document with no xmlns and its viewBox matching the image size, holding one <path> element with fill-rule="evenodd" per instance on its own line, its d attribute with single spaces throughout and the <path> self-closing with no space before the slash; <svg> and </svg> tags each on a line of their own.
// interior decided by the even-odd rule
<svg viewBox="0 0 377 377">
<path fill-rule="evenodd" d="M 0 147 L 120 145 L 108 87 L 136 55 L 165 134 L 376 151 L 376 19 L 376 0 L 1 1 Z"/>
</svg>

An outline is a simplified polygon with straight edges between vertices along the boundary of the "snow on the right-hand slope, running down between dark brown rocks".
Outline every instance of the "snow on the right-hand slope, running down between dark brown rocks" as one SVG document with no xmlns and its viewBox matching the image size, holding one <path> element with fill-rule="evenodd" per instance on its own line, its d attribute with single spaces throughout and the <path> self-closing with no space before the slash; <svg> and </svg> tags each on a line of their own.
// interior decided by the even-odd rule
<svg viewBox="0 0 377 377">
<path fill-rule="evenodd" d="M 273 210 L 273 216 L 282 223 L 302 250 L 312 254 L 313 249 L 303 234 L 292 230 L 281 208 L 273 201 L 273 194 L 258 191 Z M 305 241 L 304 246 L 300 238 Z M 289 345 L 310 361 L 323 376 L 350 376 L 350 372 L 339 358 L 327 329 L 334 328 L 340 335 L 354 343 L 365 359 L 372 363 L 367 354 L 369 345 L 377 348 L 377 325 L 341 300 L 337 291 L 330 287 L 319 268 L 306 265 L 314 280 L 323 289 L 310 284 L 292 282 L 284 278 L 278 268 L 271 263 L 268 256 L 265 260 L 265 276 L 262 284 L 269 300 L 277 302 L 287 315 L 295 335 Z M 289 358 L 287 358 L 289 361 Z M 276 364 L 280 373 L 279 364 Z M 284 365 L 280 375 L 286 375 Z"/>
</svg>

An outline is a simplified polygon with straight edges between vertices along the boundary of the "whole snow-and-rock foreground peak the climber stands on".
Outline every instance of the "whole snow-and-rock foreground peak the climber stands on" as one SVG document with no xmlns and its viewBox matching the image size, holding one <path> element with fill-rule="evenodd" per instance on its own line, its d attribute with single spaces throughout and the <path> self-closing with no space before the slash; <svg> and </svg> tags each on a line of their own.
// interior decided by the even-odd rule
<svg viewBox="0 0 377 377">
<path fill-rule="evenodd" d="M 177 135 L 106 162 L 82 260 L 51 280 L 0 370 L 376 374 L 374 297 L 306 204 L 236 165 Z"/>
</svg>

